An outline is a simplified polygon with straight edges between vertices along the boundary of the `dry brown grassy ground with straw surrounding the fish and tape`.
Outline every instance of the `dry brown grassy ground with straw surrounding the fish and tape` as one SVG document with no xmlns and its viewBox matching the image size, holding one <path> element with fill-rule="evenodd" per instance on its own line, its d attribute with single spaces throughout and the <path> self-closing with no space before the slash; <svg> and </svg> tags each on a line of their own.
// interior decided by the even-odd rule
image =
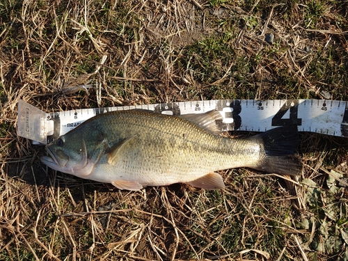
<svg viewBox="0 0 348 261">
<path fill-rule="evenodd" d="M 47 170 L 43 148 L 15 134 L 19 99 L 47 112 L 347 101 L 347 17 L 331 0 L 1 1 L 0 259 L 347 260 L 348 193 L 333 179 L 347 139 L 301 134 L 296 207 L 283 179 L 244 168 L 221 172 L 223 191 L 119 191 Z M 89 80 L 89 95 L 69 88 Z"/>
</svg>

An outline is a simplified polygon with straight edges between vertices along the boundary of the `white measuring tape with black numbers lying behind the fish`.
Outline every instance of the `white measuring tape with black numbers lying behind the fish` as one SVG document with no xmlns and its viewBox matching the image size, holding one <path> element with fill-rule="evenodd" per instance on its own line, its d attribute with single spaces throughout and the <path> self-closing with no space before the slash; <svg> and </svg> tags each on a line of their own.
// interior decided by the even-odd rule
<svg viewBox="0 0 348 261">
<path fill-rule="evenodd" d="M 146 109 L 180 116 L 216 109 L 223 120 L 221 131 L 264 132 L 278 126 L 296 125 L 299 132 L 348 137 L 348 105 L 333 100 L 207 100 L 146 104 L 45 113 L 19 100 L 17 134 L 47 144 L 85 120 L 108 111 Z"/>
</svg>

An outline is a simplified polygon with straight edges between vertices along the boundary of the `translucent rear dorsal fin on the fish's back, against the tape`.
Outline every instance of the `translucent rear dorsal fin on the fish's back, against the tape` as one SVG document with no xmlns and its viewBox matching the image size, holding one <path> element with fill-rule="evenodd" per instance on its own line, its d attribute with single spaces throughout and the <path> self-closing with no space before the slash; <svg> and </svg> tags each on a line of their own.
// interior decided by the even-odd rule
<svg viewBox="0 0 348 261">
<path fill-rule="evenodd" d="M 223 120 L 219 111 L 212 110 L 205 113 L 183 114 L 180 115 L 180 117 L 196 123 L 198 126 L 206 129 L 208 132 L 212 132 L 212 134 L 216 135 L 223 132 L 216 125 L 216 120 Z"/>
</svg>

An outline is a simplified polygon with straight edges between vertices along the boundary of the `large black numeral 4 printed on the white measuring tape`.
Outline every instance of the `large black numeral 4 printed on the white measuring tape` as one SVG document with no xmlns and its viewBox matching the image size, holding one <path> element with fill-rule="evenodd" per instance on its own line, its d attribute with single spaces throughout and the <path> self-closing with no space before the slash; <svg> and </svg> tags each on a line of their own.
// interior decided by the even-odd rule
<svg viewBox="0 0 348 261">
<path fill-rule="evenodd" d="M 287 100 L 280 108 L 276 115 L 272 118 L 272 126 L 288 126 L 288 125 L 302 125 L 302 119 L 298 118 L 299 101 Z M 285 113 L 290 111 L 289 118 L 283 118 Z"/>
</svg>

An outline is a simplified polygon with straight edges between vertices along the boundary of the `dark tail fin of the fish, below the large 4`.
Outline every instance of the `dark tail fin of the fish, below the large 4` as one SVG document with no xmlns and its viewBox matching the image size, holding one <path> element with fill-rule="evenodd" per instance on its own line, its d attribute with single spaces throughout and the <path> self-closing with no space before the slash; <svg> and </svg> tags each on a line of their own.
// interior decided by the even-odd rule
<svg viewBox="0 0 348 261">
<path fill-rule="evenodd" d="M 264 155 L 260 156 L 258 166 L 253 168 L 283 175 L 301 174 L 302 165 L 295 155 L 299 144 L 296 126 L 278 127 L 250 139 L 261 143 L 264 148 Z"/>
</svg>

